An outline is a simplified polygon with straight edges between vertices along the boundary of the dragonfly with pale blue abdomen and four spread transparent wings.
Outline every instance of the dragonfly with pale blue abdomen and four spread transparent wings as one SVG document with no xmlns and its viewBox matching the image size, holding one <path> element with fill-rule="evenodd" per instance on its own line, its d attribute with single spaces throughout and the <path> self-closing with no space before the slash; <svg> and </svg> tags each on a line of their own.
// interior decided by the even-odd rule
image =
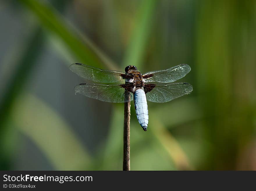
<svg viewBox="0 0 256 191">
<path fill-rule="evenodd" d="M 125 103 L 134 100 L 136 116 L 144 131 L 148 126 L 147 101 L 164 103 L 192 92 L 189 83 L 173 83 L 191 70 L 189 65 L 177 65 L 165 70 L 141 74 L 136 66 L 129 65 L 125 72 L 104 70 L 74 63 L 70 70 L 97 83 L 80 83 L 75 93 L 105 102 Z"/>
</svg>

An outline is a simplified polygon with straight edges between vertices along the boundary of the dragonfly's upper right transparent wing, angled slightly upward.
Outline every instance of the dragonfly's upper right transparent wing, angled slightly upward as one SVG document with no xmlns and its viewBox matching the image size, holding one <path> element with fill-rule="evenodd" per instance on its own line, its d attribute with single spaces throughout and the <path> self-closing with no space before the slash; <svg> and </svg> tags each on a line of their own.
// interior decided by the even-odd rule
<svg viewBox="0 0 256 191">
<path fill-rule="evenodd" d="M 166 70 L 157 70 L 143 74 L 145 82 L 170 83 L 186 76 L 191 70 L 189 65 L 182 64 Z"/>
</svg>

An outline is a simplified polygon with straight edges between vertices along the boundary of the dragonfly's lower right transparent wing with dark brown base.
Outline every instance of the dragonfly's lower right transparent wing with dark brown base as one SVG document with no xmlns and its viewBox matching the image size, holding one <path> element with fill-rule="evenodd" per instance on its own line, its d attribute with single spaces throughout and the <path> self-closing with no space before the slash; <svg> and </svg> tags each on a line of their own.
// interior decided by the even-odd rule
<svg viewBox="0 0 256 191">
<path fill-rule="evenodd" d="M 163 103 L 191 93 L 192 85 L 189 83 L 154 83 L 145 84 L 144 91 L 147 101 Z"/>
</svg>

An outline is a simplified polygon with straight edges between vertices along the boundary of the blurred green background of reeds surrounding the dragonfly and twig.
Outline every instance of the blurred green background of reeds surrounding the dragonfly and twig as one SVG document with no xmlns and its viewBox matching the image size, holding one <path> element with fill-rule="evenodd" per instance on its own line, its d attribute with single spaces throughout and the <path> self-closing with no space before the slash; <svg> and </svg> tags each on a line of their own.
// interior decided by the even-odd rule
<svg viewBox="0 0 256 191">
<path fill-rule="evenodd" d="M 71 63 L 191 66 L 147 132 L 131 103 L 131 170 L 256 170 L 256 1 L 1 0 L 0 23 L 1 170 L 122 170 L 123 104 Z"/>
</svg>

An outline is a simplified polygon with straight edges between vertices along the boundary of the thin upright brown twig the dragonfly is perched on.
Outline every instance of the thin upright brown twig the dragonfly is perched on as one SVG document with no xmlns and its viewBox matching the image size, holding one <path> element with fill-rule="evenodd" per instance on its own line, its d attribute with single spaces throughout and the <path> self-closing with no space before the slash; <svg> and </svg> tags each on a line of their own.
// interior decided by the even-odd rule
<svg viewBox="0 0 256 191">
<path fill-rule="evenodd" d="M 125 111 L 124 111 L 124 156 L 123 156 L 123 170 L 130 170 L 130 94 L 125 92 Z"/>
</svg>

